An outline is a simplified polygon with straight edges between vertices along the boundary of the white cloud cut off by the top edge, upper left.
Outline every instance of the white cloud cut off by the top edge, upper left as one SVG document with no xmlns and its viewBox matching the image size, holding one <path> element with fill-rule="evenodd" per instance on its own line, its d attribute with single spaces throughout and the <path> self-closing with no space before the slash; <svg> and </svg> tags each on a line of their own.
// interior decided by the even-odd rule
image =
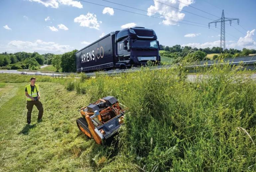
<svg viewBox="0 0 256 172">
<path fill-rule="evenodd" d="M 83 8 L 82 4 L 73 0 L 29 0 L 43 4 L 46 7 L 59 8 L 59 4 L 70 5 L 72 7 Z"/>
</svg>

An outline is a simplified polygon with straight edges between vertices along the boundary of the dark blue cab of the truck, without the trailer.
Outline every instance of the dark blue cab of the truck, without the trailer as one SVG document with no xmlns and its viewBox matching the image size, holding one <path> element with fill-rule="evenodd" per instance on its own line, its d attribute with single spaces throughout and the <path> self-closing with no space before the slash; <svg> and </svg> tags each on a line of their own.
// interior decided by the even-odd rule
<svg viewBox="0 0 256 172">
<path fill-rule="evenodd" d="M 148 61 L 159 64 L 159 42 L 154 30 L 130 27 L 115 32 L 115 66 L 130 68 L 146 65 Z"/>
</svg>

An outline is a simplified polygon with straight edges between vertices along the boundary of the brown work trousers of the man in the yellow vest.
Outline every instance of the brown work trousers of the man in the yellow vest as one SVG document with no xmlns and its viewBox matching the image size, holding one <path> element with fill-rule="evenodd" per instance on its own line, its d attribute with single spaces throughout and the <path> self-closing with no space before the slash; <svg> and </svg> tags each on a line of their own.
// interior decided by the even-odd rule
<svg viewBox="0 0 256 172">
<path fill-rule="evenodd" d="M 39 110 L 37 120 L 40 120 L 43 117 L 44 108 L 43 108 L 42 103 L 39 100 L 38 101 L 27 101 L 27 109 L 28 109 L 28 111 L 27 111 L 27 123 L 31 122 L 31 112 L 33 110 L 34 105 Z"/>
</svg>

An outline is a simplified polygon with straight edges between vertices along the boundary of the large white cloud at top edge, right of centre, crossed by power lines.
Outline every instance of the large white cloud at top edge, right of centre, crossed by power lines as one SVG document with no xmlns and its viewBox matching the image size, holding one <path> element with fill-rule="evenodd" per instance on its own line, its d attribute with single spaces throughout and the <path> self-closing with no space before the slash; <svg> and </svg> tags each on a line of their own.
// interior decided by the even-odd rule
<svg viewBox="0 0 256 172">
<path fill-rule="evenodd" d="M 147 15 L 152 16 L 152 15 L 154 15 L 153 13 L 159 13 L 160 15 L 164 15 L 164 17 L 163 16 L 161 17 L 161 18 L 163 18 L 163 21 L 161 23 L 164 25 L 176 25 L 177 21 L 183 20 L 185 17 L 185 14 L 181 13 L 181 10 L 183 9 L 183 7 L 187 6 L 185 4 L 190 5 L 190 4 L 194 3 L 193 0 L 180 0 L 183 3 L 178 2 L 176 0 L 158 0 L 158 1 L 161 3 L 154 1 L 154 6 L 151 5 L 148 8 Z M 164 3 L 164 4 L 162 4 L 162 3 Z M 170 6 L 167 6 L 165 4 L 169 4 L 171 6 L 179 8 L 180 10 L 170 7 Z"/>
</svg>

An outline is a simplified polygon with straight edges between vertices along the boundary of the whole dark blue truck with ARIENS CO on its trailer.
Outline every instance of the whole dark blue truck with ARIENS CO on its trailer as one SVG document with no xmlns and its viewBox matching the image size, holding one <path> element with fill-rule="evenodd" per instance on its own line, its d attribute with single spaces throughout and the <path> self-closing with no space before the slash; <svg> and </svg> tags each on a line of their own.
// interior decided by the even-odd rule
<svg viewBox="0 0 256 172">
<path fill-rule="evenodd" d="M 75 53 L 76 71 L 125 69 L 160 64 L 159 41 L 154 30 L 130 27 L 111 32 Z"/>
</svg>

